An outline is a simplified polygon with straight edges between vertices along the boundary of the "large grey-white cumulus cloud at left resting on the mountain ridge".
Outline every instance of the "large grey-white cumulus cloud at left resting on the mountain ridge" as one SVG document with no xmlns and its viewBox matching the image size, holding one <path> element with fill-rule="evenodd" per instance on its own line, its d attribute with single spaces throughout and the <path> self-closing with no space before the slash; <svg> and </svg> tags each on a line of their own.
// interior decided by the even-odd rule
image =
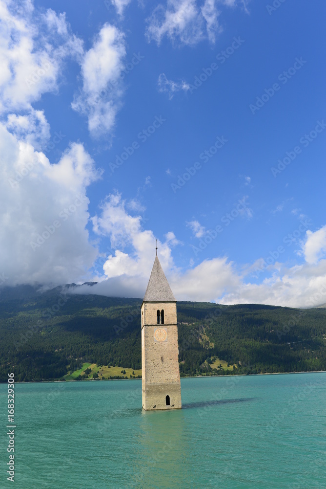
<svg viewBox="0 0 326 489">
<path fill-rule="evenodd" d="M 0 273 L 6 285 L 58 285 L 90 277 L 97 249 L 86 229 L 86 190 L 97 178 L 82 144 L 72 143 L 59 163 L 51 164 L 0 124 Z"/>
</svg>

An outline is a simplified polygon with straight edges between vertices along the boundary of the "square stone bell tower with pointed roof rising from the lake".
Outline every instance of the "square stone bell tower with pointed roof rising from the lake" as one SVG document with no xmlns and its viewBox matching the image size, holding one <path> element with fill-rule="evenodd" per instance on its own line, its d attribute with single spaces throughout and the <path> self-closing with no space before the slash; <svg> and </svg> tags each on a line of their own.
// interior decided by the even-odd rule
<svg viewBox="0 0 326 489">
<path fill-rule="evenodd" d="M 177 301 L 156 255 L 142 304 L 143 409 L 181 408 L 178 355 Z"/>
</svg>

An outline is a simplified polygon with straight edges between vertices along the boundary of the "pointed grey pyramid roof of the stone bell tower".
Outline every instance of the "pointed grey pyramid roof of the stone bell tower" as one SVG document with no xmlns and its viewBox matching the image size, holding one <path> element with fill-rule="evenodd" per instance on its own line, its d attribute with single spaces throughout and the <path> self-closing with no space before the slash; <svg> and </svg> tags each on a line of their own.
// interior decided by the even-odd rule
<svg viewBox="0 0 326 489">
<path fill-rule="evenodd" d="M 176 302 L 157 255 L 143 300 L 145 302 Z"/>
</svg>

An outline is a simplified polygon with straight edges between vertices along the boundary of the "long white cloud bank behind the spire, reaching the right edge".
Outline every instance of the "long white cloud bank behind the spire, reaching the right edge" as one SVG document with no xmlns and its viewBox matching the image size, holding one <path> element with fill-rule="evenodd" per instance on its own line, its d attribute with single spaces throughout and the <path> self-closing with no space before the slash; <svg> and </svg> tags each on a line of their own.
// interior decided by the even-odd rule
<svg viewBox="0 0 326 489">
<path fill-rule="evenodd" d="M 154 233 L 143 229 L 140 216 L 126 212 L 120 194 L 108 197 L 101 215 L 93 218 L 93 224 L 98 234 L 110 239 L 116 251 L 107 257 L 103 266 L 105 279 L 94 287 L 85 285 L 77 292 L 142 298 L 155 258 Z M 189 226 L 194 233 L 204 232 L 198 221 Z M 308 244 L 310 236 L 307 233 Z M 255 264 L 244 267 L 226 256 L 204 260 L 197 266 L 192 260 L 192 269 L 183 271 L 175 266 L 172 257 L 174 233 L 167 232 L 165 238 L 163 243 L 158 241 L 158 255 L 177 300 L 299 308 L 326 302 L 326 259 L 317 265 L 306 261 L 294 267 L 277 262 L 268 268 L 266 277 L 261 276 L 261 283 L 256 284 L 248 278 Z"/>
</svg>

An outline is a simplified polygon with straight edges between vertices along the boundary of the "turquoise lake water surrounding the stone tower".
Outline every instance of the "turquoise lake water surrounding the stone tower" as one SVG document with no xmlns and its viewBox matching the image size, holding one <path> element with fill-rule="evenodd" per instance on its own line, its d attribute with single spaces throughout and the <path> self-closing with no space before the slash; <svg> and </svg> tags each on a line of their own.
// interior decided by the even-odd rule
<svg viewBox="0 0 326 489">
<path fill-rule="evenodd" d="M 182 378 L 183 409 L 144 412 L 141 380 L 17 384 L 15 483 L 0 487 L 326 488 L 326 373 Z"/>
</svg>

